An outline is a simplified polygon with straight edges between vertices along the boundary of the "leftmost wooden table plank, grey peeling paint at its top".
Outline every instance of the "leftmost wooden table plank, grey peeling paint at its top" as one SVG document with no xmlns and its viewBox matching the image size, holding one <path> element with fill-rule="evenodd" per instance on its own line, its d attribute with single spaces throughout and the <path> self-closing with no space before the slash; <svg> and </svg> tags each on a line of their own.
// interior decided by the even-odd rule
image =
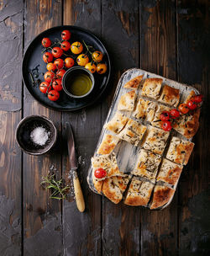
<svg viewBox="0 0 210 256">
<path fill-rule="evenodd" d="M 21 120 L 23 8 L 22 1 L 0 3 L 0 255 L 20 255 L 22 247 L 21 151 L 14 134 Z"/>
</svg>

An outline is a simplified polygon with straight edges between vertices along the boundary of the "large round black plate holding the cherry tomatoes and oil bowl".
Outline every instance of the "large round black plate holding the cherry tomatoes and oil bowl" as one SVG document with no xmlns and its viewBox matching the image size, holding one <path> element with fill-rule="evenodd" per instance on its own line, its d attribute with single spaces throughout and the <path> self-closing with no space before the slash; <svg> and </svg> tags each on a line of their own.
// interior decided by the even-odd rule
<svg viewBox="0 0 210 256">
<path fill-rule="evenodd" d="M 73 43 L 74 41 L 80 41 L 82 43 L 82 40 L 84 40 L 87 45 L 92 45 L 95 50 L 102 51 L 104 55 L 102 62 L 107 64 L 108 71 L 103 75 L 99 75 L 97 73 L 93 74 L 95 77 L 95 86 L 92 93 L 90 93 L 86 98 L 73 99 L 62 91 L 60 92 L 60 99 L 53 102 L 47 98 L 46 94 L 39 91 L 39 83 L 40 81 L 44 81 L 43 73 L 47 72 L 46 63 L 42 59 L 43 53 L 41 53 L 41 51 L 43 50 L 43 46 L 41 45 L 41 40 L 43 37 L 49 37 L 52 41 L 55 41 L 55 39 L 61 40 L 61 31 L 64 29 L 69 29 L 71 31 L 70 43 Z M 72 53 L 70 53 L 70 55 L 72 55 Z M 65 57 L 61 58 L 64 59 Z M 45 107 L 60 111 L 82 109 L 96 102 L 108 86 L 110 72 L 111 66 L 108 51 L 104 45 L 102 45 L 102 42 L 88 30 L 68 25 L 47 29 L 37 35 L 25 51 L 22 62 L 22 76 L 29 93 L 31 93 L 34 99 L 38 100 L 40 104 L 45 105 Z M 33 79 L 30 74 L 33 75 L 33 79 L 36 83 L 33 83 Z"/>
</svg>

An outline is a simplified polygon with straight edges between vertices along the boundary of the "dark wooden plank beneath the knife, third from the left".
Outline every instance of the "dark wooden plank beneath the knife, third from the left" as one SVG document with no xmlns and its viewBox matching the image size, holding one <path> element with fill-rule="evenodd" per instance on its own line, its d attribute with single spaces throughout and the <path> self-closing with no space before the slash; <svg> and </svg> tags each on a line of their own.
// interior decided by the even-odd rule
<svg viewBox="0 0 210 256">
<path fill-rule="evenodd" d="M 101 34 L 101 1 L 64 2 L 64 24 L 75 24 Z M 106 104 L 106 103 L 104 103 Z M 83 190 L 86 211 L 76 208 L 73 198 L 63 204 L 63 233 L 65 255 L 101 255 L 101 201 L 87 185 L 87 170 L 102 128 L 102 104 L 97 103 L 74 113 L 63 113 L 63 148 L 66 148 L 66 122 L 70 122 L 75 135 L 79 159 L 78 173 Z M 67 152 L 63 154 L 63 176 L 69 172 Z"/>
</svg>

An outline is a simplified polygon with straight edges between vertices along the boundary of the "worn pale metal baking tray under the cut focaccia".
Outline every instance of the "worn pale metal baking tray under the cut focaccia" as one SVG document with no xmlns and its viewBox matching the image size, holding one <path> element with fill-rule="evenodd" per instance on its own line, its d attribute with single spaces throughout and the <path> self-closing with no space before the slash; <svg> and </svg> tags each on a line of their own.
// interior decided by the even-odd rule
<svg viewBox="0 0 210 256">
<path fill-rule="evenodd" d="M 171 79 L 161 77 L 161 76 L 156 75 L 154 73 L 146 72 L 146 71 L 144 71 L 142 69 L 139 69 L 139 68 L 132 68 L 132 69 L 129 69 L 126 72 L 124 72 L 123 75 L 119 78 L 118 86 L 116 88 L 116 92 L 115 92 L 114 97 L 113 97 L 113 102 L 112 102 L 112 104 L 110 106 L 110 109 L 108 111 L 108 116 L 107 116 L 107 119 L 104 122 L 104 125 L 106 125 L 109 120 L 112 120 L 113 115 L 115 115 L 115 113 L 117 112 L 118 101 L 121 98 L 121 96 L 124 93 L 129 92 L 129 89 L 123 88 L 124 84 L 129 82 L 129 80 L 131 80 L 132 78 L 140 76 L 140 75 L 143 75 L 144 77 L 143 77 L 143 79 L 140 83 L 139 89 L 137 90 L 138 97 L 139 97 L 139 93 L 141 91 L 142 85 L 144 83 L 144 79 L 150 78 L 150 77 L 160 77 L 160 78 L 162 78 L 163 79 L 162 86 L 167 84 L 167 85 L 169 85 L 173 88 L 178 88 L 180 90 L 180 95 L 181 95 L 180 102 L 184 102 L 186 97 L 188 96 L 188 94 L 192 90 L 195 93 L 199 94 L 197 89 L 193 88 L 192 86 L 188 86 L 188 85 L 183 84 L 183 83 L 177 83 L 176 81 L 173 81 Z M 146 99 L 145 97 L 143 97 L 143 98 Z M 158 101 L 156 101 L 155 99 L 150 99 L 150 100 L 155 101 L 155 102 L 158 103 Z M 163 104 L 163 103 L 159 102 L 159 104 Z M 165 106 L 167 106 L 167 104 L 165 104 Z M 128 117 L 130 117 L 130 115 L 132 113 L 132 112 L 128 112 L 128 111 L 120 111 L 120 112 L 127 115 Z M 132 117 L 132 119 L 138 120 L 139 122 L 141 122 L 144 125 L 150 125 L 150 122 L 148 122 L 146 120 L 135 119 L 134 117 Z M 98 139 L 98 142 L 97 142 L 97 147 L 96 147 L 96 150 L 94 152 L 94 156 L 97 155 L 97 148 L 100 146 L 100 144 L 102 142 L 102 139 L 103 139 L 103 136 L 107 133 L 108 134 L 113 134 L 111 131 L 106 130 L 104 128 L 104 125 L 103 125 L 103 128 L 102 128 L 101 135 L 99 136 L 99 139 Z M 186 140 L 186 138 L 184 136 L 181 136 L 180 133 L 178 133 L 177 131 L 174 131 L 173 129 L 171 131 L 170 138 L 171 138 L 171 136 L 178 136 L 181 139 Z M 169 144 L 169 141 L 170 141 L 170 139 L 168 139 L 167 144 Z M 192 141 L 192 139 L 189 139 L 187 141 Z M 169 145 L 167 145 L 165 147 L 165 151 L 164 151 L 162 157 L 165 157 L 165 152 L 166 152 L 168 146 Z M 134 145 L 132 145 L 132 144 L 126 142 L 126 141 L 118 142 L 118 145 L 117 145 L 117 147 L 114 148 L 113 152 L 115 152 L 115 154 L 117 156 L 118 168 L 119 168 L 120 172 L 130 173 L 134 169 L 134 165 L 136 163 L 136 158 L 138 157 L 138 152 L 139 152 L 140 148 L 141 147 L 135 147 Z M 139 179 L 145 180 L 144 178 L 140 178 L 140 177 L 139 177 Z M 97 193 L 97 190 L 94 188 L 94 185 L 92 183 L 92 165 L 90 165 L 90 168 L 89 168 L 88 173 L 87 173 L 87 183 L 88 183 L 90 189 L 92 189 L 92 191 L 94 193 Z M 177 182 L 174 186 L 171 186 L 170 184 L 165 184 L 164 182 L 160 182 L 160 181 L 156 182 L 155 184 L 162 184 L 162 185 L 166 185 L 167 187 L 170 187 L 172 189 L 176 189 L 177 184 L 178 184 L 178 180 L 177 180 Z M 173 199 L 173 197 L 171 198 L 171 200 L 172 199 Z M 171 200 L 167 204 L 163 205 L 162 207 L 160 207 L 158 209 L 164 209 L 167 205 L 169 205 L 171 203 Z M 146 207 L 149 207 L 149 206 L 147 205 Z"/>
</svg>

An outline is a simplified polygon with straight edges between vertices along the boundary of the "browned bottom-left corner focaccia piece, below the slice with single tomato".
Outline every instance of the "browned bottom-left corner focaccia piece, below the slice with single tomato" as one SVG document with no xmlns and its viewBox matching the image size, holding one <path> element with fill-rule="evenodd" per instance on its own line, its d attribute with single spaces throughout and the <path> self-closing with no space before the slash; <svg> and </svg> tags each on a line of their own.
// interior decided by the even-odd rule
<svg viewBox="0 0 210 256">
<path fill-rule="evenodd" d="M 102 194 L 114 204 L 118 204 L 123 198 L 123 192 L 131 179 L 131 175 L 113 176 L 107 178 L 102 184 Z"/>
</svg>

